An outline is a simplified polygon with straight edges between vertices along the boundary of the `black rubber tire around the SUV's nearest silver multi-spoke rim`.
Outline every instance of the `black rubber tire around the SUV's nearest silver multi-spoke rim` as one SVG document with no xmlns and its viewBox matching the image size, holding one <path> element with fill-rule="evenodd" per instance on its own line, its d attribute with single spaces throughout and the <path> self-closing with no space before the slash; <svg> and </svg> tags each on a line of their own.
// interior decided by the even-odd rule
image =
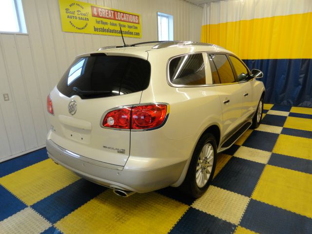
<svg viewBox="0 0 312 234">
<path fill-rule="evenodd" d="M 197 166 L 201 166 L 198 164 L 198 159 L 199 156 L 201 155 L 201 151 L 202 149 L 205 147 L 210 147 L 210 145 L 213 148 L 213 160 L 211 159 L 211 161 L 213 161 L 213 165 L 212 168 L 211 166 L 209 166 L 211 168 L 211 172 L 210 172 L 210 176 L 208 177 L 207 182 L 204 184 L 204 186 L 198 186 L 197 182 L 196 182 L 196 168 Z M 211 149 L 211 148 L 210 148 Z M 182 189 L 182 191 L 188 195 L 191 195 L 194 198 L 198 198 L 200 196 L 202 196 L 206 190 L 208 189 L 214 173 L 215 173 L 215 164 L 216 164 L 216 141 L 215 141 L 215 137 L 214 135 L 210 134 L 210 133 L 205 133 L 202 137 L 200 137 L 200 139 L 197 142 L 197 145 L 195 147 L 190 165 L 189 165 L 189 169 L 187 171 L 186 177 L 182 183 L 182 185 L 180 186 L 180 188 Z M 208 161 L 206 160 L 206 163 Z M 210 165 L 211 163 L 209 163 L 208 165 Z M 207 164 L 206 164 L 207 165 Z M 204 170 L 204 169 L 203 169 Z M 198 172 L 198 171 L 197 171 Z"/>
</svg>

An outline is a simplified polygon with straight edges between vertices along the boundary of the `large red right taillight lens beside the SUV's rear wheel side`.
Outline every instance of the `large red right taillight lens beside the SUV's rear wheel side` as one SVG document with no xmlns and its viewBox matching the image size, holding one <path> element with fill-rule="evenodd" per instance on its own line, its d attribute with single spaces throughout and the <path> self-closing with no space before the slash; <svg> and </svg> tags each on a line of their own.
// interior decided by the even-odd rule
<svg viewBox="0 0 312 234">
<path fill-rule="evenodd" d="M 118 129 L 152 129 L 160 126 L 167 115 L 166 104 L 148 104 L 110 111 L 102 126 Z"/>
</svg>

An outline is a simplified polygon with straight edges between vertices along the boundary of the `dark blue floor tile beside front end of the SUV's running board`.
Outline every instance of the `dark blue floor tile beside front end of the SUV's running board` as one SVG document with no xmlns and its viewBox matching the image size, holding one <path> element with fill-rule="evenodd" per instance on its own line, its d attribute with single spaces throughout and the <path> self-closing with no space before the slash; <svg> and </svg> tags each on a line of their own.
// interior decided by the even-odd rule
<svg viewBox="0 0 312 234">
<path fill-rule="evenodd" d="M 243 146 L 272 152 L 278 134 L 262 131 L 253 131 L 244 141 Z"/>
</svg>

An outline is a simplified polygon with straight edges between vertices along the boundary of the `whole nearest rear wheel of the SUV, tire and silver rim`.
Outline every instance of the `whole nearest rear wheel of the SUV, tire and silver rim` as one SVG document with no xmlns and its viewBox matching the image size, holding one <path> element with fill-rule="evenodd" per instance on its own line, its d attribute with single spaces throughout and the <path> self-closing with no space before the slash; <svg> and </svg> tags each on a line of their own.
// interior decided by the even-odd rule
<svg viewBox="0 0 312 234">
<path fill-rule="evenodd" d="M 181 188 L 185 193 L 198 198 L 211 183 L 216 164 L 216 141 L 210 134 L 204 134 L 195 147 L 188 172 Z"/>
</svg>

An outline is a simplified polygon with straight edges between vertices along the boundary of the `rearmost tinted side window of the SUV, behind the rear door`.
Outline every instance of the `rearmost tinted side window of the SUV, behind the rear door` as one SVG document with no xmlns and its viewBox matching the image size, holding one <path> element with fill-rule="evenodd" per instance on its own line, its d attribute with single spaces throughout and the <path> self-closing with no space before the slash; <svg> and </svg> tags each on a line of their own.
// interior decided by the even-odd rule
<svg viewBox="0 0 312 234">
<path fill-rule="evenodd" d="M 172 59 L 169 64 L 169 76 L 173 84 L 206 84 L 202 54 L 185 55 Z"/>
</svg>

